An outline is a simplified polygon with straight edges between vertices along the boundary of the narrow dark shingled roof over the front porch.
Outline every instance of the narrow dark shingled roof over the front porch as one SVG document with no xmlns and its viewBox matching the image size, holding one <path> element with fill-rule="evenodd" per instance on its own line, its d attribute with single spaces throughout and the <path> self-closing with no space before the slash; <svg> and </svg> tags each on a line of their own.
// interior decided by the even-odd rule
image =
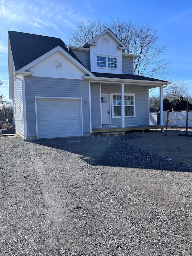
<svg viewBox="0 0 192 256">
<path fill-rule="evenodd" d="M 143 77 L 138 75 L 129 75 L 129 74 L 108 74 L 108 73 L 98 73 L 92 72 L 96 77 L 108 77 L 108 78 L 118 78 L 118 79 L 133 79 L 133 80 L 145 80 L 145 81 L 156 81 L 156 82 L 166 82 L 168 81 L 159 80 L 151 77 Z"/>
</svg>

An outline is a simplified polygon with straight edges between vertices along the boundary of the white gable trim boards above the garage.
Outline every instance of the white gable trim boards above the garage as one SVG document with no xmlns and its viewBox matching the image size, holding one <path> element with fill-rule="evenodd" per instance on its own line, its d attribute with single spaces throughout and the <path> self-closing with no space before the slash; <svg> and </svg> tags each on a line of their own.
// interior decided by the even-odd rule
<svg viewBox="0 0 192 256">
<path fill-rule="evenodd" d="M 60 46 L 57 46 L 55 48 L 53 48 L 52 50 L 50 50 L 49 52 L 45 53 L 44 55 L 42 55 L 41 57 L 39 57 L 38 59 L 35 59 L 34 61 L 32 61 L 31 63 L 27 64 L 25 67 L 20 68 L 18 71 L 26 71 L 27 69 L 33 67 L 34 65 L 38 64 L 39 62 L 41 62 L 42 60 L 46 59 L 47 57 L 49 57 L 50 55 L 52 55 L 55 52 L 59 52 L 61 53 L 63 56 L 65 56 L 68 60 L 70 60 L 77 68 L 79 68 L 82 72 L 84 72 L 85 74 L 88 74 L 89 76 L 93 77 L 94 75 L 88 70 L 86 69 L 83 65 L 81 65 L 76 59 L 74 59 L 72 56 L 70 56 L 69 53 L 67 53 L 65 50 L 63 50 Z M 94 76 L 95 77 L 95 76 Z"/>
</svg>

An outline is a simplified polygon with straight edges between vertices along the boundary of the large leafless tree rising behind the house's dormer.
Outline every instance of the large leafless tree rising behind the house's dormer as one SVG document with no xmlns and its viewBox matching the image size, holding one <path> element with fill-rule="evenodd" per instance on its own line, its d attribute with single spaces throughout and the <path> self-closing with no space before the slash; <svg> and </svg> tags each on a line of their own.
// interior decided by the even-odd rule
<svg viewBox="0 0 192 256">
<path fill-rule="evenodd" d="M 109 24 L 98 19 L 80 21 L 71 30 L 68 43 L 81 47 L 107 28 L 128 47 L 126 53 L 140 55 L 135 60 L 135 74 L 156 78 L 170 74 L 169 62 L 162 58 L 166 46 L 158 44 L 157 31 L 146 21 L 143 24 L 131 20 L 121 22 L 119 18 L 112 18 Z"/>
</svg>

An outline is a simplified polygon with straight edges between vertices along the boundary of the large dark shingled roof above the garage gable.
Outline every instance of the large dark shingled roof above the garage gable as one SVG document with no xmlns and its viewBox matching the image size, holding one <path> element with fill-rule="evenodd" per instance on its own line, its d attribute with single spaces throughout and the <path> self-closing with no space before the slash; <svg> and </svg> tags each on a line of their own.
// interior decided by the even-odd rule
<svg viewBox="0 0 192 256">
<path fill-rule="evenodd" d="M 31 63 L 35 59 L 38 59 L 57 46 L 63 48 L 63 50 L 82 64 L 82 62 L 71 50 L 68 52 L 66 45 L 60 38 L 15 31 L 8 31 L 8 35 L 16 71 Z"/>
</svg>

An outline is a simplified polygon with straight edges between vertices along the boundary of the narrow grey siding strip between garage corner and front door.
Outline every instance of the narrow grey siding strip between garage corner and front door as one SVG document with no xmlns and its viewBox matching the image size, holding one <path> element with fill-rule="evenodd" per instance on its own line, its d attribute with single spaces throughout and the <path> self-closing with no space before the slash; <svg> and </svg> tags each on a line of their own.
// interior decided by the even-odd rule
<svg viewBox="0 0 192 256">
<path fill-rule="evenodd" d="M 91 83 L 91 123 L 92 128 L 101 128 L 101 98 L 99 83 Z"/>
</svg>

